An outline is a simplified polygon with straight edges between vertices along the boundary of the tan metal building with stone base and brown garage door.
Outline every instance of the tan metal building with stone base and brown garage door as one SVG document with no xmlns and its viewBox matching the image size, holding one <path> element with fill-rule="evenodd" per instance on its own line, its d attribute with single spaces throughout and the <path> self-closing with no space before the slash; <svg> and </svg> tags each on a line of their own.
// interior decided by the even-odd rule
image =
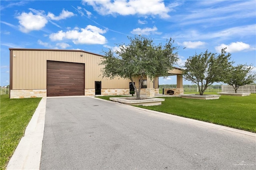
<svg viewBox="0 0 256 170">
<path fill-rule="evenodd" d="M 10 48 L 10 98 L 128 95 L 130 80 L 102 78 L 102 55 L 82 50 Z M 183 93 L 182 71 L 174 69 Z M 135 79 L 136 87 L 139 86 Z M 158 93 L 158 77 L 145 77 L 141 94 Z"/>
</svg>

